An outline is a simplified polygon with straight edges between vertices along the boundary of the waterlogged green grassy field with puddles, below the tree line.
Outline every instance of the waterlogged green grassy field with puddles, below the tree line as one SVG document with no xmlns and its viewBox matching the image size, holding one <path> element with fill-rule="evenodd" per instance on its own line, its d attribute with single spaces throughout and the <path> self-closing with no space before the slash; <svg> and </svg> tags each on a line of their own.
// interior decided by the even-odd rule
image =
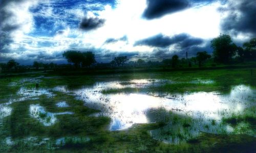
<svg viewBox="0 0 256 153">
<path fill-rule="evenodd" d="M 1 79 L 0 151 L 253 152 L 255 80 L 250 69 Z"/>
</svg>

